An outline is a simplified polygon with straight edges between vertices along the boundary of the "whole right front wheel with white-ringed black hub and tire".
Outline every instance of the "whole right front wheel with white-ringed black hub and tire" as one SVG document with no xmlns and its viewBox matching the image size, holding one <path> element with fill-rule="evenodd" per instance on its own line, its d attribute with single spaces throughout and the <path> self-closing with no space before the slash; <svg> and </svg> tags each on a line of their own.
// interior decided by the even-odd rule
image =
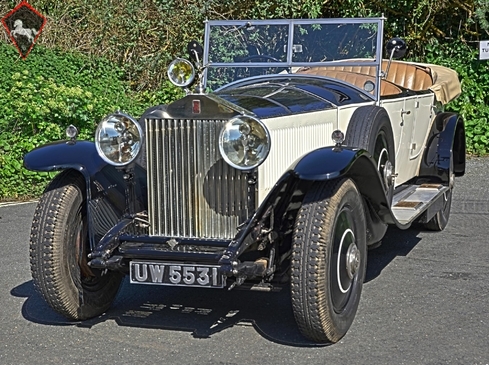
<svg viewBox="0 0 489 365">
<path fill-rule="evenodd" d="M 291 258 L 292 308 L 305 337 L 334 343 L 350 328 L 365 279 L 365 232 L 363 201 L 351 179 L 317 182 L 306 194 Z"/>
</svg>

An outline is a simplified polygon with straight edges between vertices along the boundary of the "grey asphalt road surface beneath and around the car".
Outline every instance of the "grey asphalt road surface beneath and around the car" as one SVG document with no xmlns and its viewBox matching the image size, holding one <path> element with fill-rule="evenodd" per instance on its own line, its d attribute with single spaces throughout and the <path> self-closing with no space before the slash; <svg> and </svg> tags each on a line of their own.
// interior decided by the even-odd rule
<svg viewBox="0 0 489 365">
<path fill-rule="evenodd" d="M 100 318 L 68 322 L 35 292 L 35 203 L 0 205 L 0 364 L 489 364 L 489 159 L 456 180 L 445 231 L 389 230 L 369 252 L 347 335 L 298 333 L 289 293 L 124 282 Z"/>
</svg>

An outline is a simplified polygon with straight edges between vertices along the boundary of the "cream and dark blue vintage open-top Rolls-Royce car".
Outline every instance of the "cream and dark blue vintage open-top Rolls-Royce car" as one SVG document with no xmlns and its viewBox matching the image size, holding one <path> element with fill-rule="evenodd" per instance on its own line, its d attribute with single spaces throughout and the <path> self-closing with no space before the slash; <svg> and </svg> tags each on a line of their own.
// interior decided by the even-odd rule
<svg viewBox="0 0 489 365">
<path fill-rule="evenodd" d="M 208 21 L 204 46 L 191 42 L 168 68 L 185 97 L 139 120 L 110 114 L 94 142 L 69 126 L 66 141 L 26 154 L 30 170 L 62 170 L 32 224 L 44 299 L 83 320 L 110 307 L 124 275 L 290 286 L 300 331 L 338 341 L 367 249 L 388 225 L 442 230 L 465 172 L 464 123 L 444 112 L 460 93 L 456 73 L 399 61 L 406 44 L 384 45 L 383 25 Z"/>
</svg>

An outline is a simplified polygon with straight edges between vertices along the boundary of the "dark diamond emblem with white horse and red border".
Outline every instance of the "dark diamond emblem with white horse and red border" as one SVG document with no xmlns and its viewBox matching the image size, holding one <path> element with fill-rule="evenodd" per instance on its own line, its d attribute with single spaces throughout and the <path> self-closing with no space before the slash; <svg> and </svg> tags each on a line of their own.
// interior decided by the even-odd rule
<svg viewBox="0 0 489 365">
<path fill-rule="evenodd" d="M 27 0 L 23 0 L 2 18 L 2 24 L 25 59 L 46 24 L 46 18 L 34 9 Z"/>
</svg>

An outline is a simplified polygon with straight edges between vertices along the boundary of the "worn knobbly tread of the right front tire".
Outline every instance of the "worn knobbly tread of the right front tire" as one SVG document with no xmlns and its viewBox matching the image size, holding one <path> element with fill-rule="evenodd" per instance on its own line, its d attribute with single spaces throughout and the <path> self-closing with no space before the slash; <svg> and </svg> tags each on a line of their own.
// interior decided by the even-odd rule
<svg viewBox="0 0 489 365">
<path fill-rule="evenodd" d="M 330 206 L 340 203 L 342 191 L 351 188 L 356 190 L 351 180 L 316 183 L 303 201 L 294 228 L 291 257 L 292 308 L 299 330 L 317 342 L 337 342 L 344 335 L 344 331 L 336 327 L 329 315 L 328 293 L 321 289 L 320 282 L 328 277 L 325 263 L 327 237 L 323 227 L 331 227 L 335 219 L 327 211 Z M 306 265 L 306 268 L 301 265 Z"/>
</svg>

